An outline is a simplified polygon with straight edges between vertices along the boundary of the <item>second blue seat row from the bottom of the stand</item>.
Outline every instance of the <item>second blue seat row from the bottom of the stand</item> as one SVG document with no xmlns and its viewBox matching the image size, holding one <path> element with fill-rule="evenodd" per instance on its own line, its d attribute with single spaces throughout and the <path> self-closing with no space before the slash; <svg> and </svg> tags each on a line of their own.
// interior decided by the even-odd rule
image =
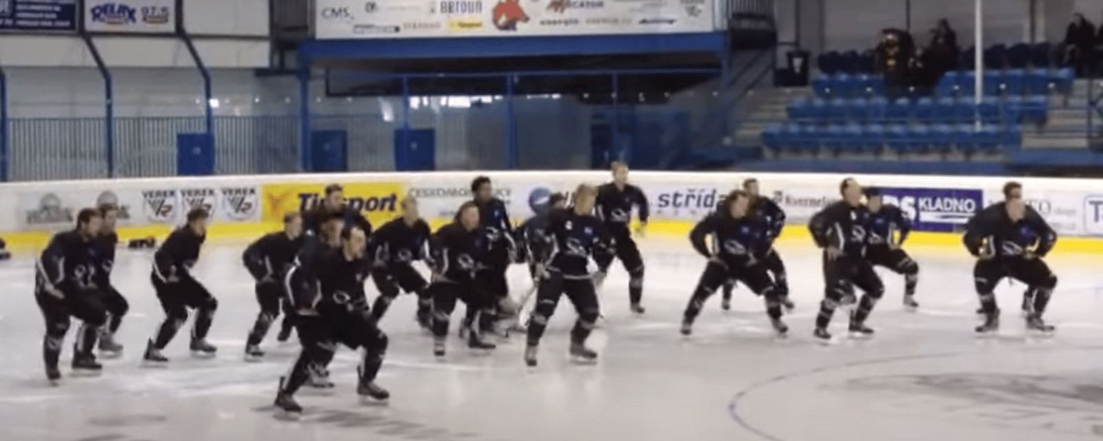
<svg viewBox="0 0 1103 441">
<path fill-rule="evenodd" d="M 847 121 L 928 121 L 971 122 L 977 117 L 986 122 L 1045 122 L 1049 101 L 1046 96 L 1006 99 L 987 97 L 979 104 L 968 98 L 923 97 L 918 100 L 898 98 L 889 101 L 884 97 L 874 98 L 814 98 L 796 100 L 786 109 L 789 118 L 805 122 Z"/>
</svg>

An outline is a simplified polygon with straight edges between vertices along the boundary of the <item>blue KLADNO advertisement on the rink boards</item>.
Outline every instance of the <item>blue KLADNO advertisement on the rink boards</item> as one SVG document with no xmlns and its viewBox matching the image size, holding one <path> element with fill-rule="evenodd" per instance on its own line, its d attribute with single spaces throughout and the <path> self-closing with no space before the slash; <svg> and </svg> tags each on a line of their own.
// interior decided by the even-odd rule
<svg viewBox="0 0 1103 441">
<path fill-rule="evenodd" d="M 959 189 L 879 187 L 881 200 L 903 212 L 912 228 L 920 232 L 961 229 L 984 208 L 984 192 Z"/>
</svg>

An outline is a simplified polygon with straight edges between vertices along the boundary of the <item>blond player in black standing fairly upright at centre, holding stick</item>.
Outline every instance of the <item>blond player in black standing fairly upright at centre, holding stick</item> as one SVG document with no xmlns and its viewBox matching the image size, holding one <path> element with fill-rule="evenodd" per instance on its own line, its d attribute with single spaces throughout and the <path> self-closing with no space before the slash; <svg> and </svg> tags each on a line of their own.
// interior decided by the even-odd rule
<svg viewBox="0 0 1103 441">
<path fill-rule="evenodd" d="M 525 347 L 525 363 L 536 366 L 537 346 L 548 319 L 555 313 L 559 299 L 564 295 L 575 305 L 578 320 L 570 331 L 570 355 L 580 361 L 597 359 L 598 353 L 586 347 L 586 338 L 598 320 L 598 295 L 595 280 L 587 268 L 592 258 L 598 272 L 604 273 L 612 262 L 612 236 L 604 223 L 592 216 L 598 190 L 591 185 L 579 185 L 575 191 L 574 206 L 552 212 L 546 229 L 546 254 L 537 269 L 544 273 L 536 294 L 536 308 L 528 324 L 528 342 Z"/>
</svg>

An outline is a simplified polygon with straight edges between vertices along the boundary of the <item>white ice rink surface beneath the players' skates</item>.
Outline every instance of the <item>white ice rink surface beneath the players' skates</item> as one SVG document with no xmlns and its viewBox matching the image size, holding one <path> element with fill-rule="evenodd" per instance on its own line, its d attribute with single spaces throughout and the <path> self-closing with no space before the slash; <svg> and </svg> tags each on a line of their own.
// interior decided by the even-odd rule
<svg viewBox="0 0 1103 441">
<path fill-rule="evenodd" d="M 540 365 L 529 369 L 521 336 L 489 355 L 469 353 L 452 337 L 447 359 L 435 359 L 430 337 L 413 321 L 415 299 L 403 295 L 382 323 L 390 351 L 378 383 L 392 391 L 390 401 L 358 400 L 357 357 L 342 349 L 331 367 L 336 390 L 301 392 L 307 413 L 289 422 L 275 418 L 270 405 L 297 345 L 276 344 L 274 329 L 264 362 L 242 357 L 257 314 L 239 262 L 243 246 L 208 244 L 195 268 L 221 302 L 211 333 L 216 358 L 192 358 L 185 330 L 165 351 L 168 368 L 140 367 L 162 311 L 149 283 L 151 252 L 120 251 L 114 280 L 131 303 L 119 335 L 126 352 L 104 361 L 99 377 L 71 377 L 74 326 L 60 387 L 47 386 L 43 375 L 33 260 L 0 262 L 0 440 L 1103 439 L 1099 255 L 1050 260 L 1060 279 L 1047 316 L 1058 326 L 1053 338 L 1025 338 L 1017 311 L 1025 287 L 1004 282 L 997 290 L 1003 330 L 982 341 L 973 333 L 972 260 L 962 249 L 912 247 L 921 266 L 920 311 L 903 311 L 902 278 L 881 272 L 888 292 L 868 322 L 877 336 L 822 346 L 811 337 L 822 297 L 820 255 L 804 241 L 779 245 L 796 310 L 785 318 L 790 338 L 778 341 L 761 300 L 746 289 L 727 313 L 719 294 L 710 299 L 694 336 L 682 337 L 682 311 L 704 259 L 684 240 L 647 239 L 647 312 L 630 315 L 628 278 L 614 267 L 601 292 L 607 321 L 590 340 L 601 354 L 597 365 L 568 361 L 569 302 L 553 318 Z M 518 266 L 511 276 L 520 297 L 529 287 L 525 271 Z M 844 336 L 843 314 L 832 331 Z"/>
</svg>

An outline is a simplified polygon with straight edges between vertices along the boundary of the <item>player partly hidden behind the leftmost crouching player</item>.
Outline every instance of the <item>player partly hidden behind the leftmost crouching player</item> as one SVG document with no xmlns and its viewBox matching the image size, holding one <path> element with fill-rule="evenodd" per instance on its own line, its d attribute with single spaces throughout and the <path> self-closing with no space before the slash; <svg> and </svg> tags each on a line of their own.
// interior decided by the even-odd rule
<svg viewBox="0 0 1103 441">
<path fill-rule="evenodd" d="M 98 261 L 96 270 L 96 287 L 104 294 L 104 306 L 107 308 L 107 324 L 100 329 L 99 353 L 105 357 L 117 357 L 122 353 L 122 345 L 115 341 L 115 333 L 122 325 L 122 318 L 130 310 L 130 303 L 115 289 L 111 283 L 111 268 L 115 266 L 115 249 L 119 244 L 119 235 L 115 233 L 115 222 L 119 208 L 115 204 L 101 204 L 99 215 L 104 223 L 99 235 L 93 243 Z"/>
</svg>

